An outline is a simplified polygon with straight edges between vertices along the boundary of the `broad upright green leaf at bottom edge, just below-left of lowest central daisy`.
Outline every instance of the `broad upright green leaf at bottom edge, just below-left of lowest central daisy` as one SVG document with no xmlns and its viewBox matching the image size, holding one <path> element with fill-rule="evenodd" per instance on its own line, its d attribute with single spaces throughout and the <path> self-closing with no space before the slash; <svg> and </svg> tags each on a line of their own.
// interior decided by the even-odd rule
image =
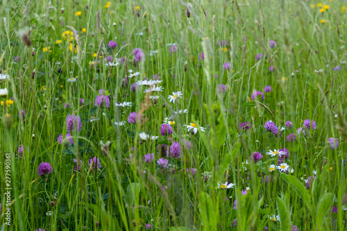
<svg viewBox="0 0 347 231">
<path fill-rule="evenodd" d="M 204 230 L 217 230 L 216 213 L 212 206 L 211 196 L 202 191 L 198 195 L 198 199 L 198 208 L 203 219 Z"/>
</svg>

